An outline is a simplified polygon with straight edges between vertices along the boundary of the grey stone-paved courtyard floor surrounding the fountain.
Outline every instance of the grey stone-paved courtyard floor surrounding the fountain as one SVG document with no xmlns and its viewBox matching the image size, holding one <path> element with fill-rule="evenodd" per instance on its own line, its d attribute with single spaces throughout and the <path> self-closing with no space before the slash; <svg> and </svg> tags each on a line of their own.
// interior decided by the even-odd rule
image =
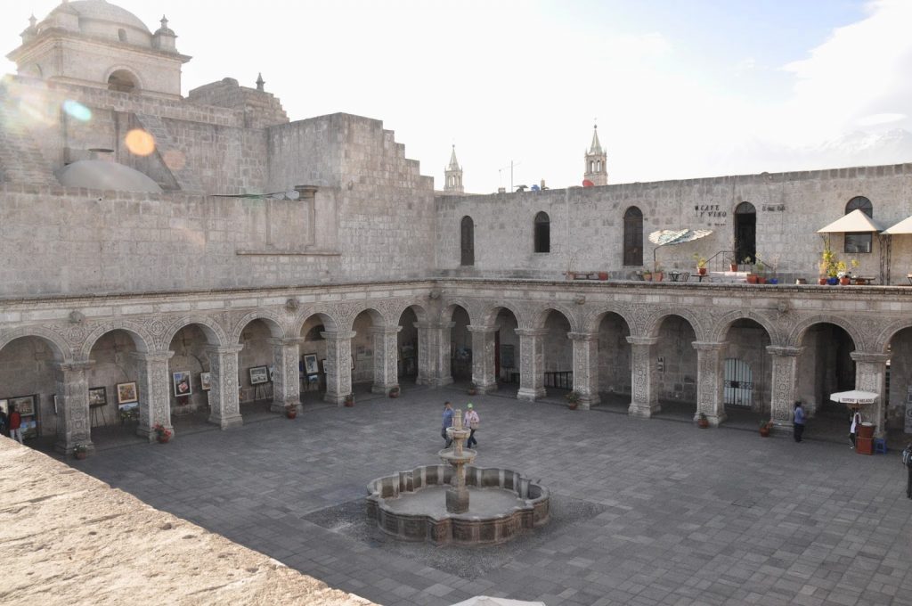
<svg viewBox="0 0 912 606">
<path fill-rule="evenodd" d="M 611 410 L 472 396 L 478 465 L 541 479 L 552 523 L 498 547 L 398 543 L 363 516 L 368 481 L 436 463 L 442 402 L 411 388 L 306 404 L 78 469 L 382 604 L 487 594 L 546 604 L 912 604 L 912 500 L 899 455 Z M 253 420 L 253 419 L 252 419 Z"/>
</svg>

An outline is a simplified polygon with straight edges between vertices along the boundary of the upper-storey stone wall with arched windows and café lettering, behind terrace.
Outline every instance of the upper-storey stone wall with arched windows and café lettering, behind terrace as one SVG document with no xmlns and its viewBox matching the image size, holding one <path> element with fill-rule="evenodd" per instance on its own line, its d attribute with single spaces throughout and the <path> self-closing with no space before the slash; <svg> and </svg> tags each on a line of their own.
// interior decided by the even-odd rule
<svg viewBox="0 0 912 606">
<path fill-rule="evenodd" d="M 437 202 L 438 267 L 445 275 L 486 277 L 560 276 L 568 270 L 610 271 L 631 276 L 642 266 L 623 265 L 624 214 L 643 213 L 644 235 L 659 229 L 711 229 L 713 234 L 686 245 L 658 250 L 658 264 L 693 271 L 693 255 L 710 257 L 731 250 L 734 209 L 741 202 L 757 211 L 757 256 L 788 277 L 816 278 L 822 240 L 816 230 L 843 214 L 845 204 L 863 195 L 874 204 L 875 220 L 889 226 L 912 214 L 912 164 L 762 173 L 711 179 L 625 183 L 592 188 L 492 195 L 440 195 Z M 534 253 L 534 217 L 551 220 L 551 252 Z M 475 266 L 460 267 L 463 216 L 475 224 Z M 653 246 L 644 237 L 645 266 Z M 879 276 L 882 243 L 870 254 L 845 255 L 844 237 L 831 236 L 843 258 L 855 256 L 857 273 Z M 719 265 L 713 268 L 722 268 Z M 727 267 L 727 264 L 725 264 Z M 912 236 L 892 238 L 888 283 L 906 282 L 912 270 Z"/>
</svg>

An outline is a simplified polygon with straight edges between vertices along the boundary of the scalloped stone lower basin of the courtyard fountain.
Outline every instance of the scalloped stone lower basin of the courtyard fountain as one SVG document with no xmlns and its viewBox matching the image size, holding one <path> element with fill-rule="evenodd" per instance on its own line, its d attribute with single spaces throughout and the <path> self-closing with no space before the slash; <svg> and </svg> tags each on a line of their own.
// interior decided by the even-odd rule
<svg viewBox="0 0 912 606">
<path fill-rule="evenodd" d="M 438 545 L 503 543 L 523 530 L 544 525 L 550 493 L 527 477 L 500 467 L 466 465 L 469 511 L 447 511 L 444 493 L 450 465 L 425 465 L 368 483 L 368 517 L 387 534 Z"/>
</svg>

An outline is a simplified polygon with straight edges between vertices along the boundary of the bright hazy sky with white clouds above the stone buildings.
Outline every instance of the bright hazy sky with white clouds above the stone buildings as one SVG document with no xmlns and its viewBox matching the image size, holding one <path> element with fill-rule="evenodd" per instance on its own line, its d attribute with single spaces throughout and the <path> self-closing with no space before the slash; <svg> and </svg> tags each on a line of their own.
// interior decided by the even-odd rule
<svg viewBox="0 0 912 606">
<path fill-rule="evenodd" d="M 58 4 L 0 0 L 3 54 Z M 439 189 L 451 145 L 467 192 L 578 185 L 595 123 L 609 183 L 912 162 L 912 0 L 114 4 L 168 17 L 184 94 L 262 72 L 291 120 L 383 120 Z"/>
</svg>

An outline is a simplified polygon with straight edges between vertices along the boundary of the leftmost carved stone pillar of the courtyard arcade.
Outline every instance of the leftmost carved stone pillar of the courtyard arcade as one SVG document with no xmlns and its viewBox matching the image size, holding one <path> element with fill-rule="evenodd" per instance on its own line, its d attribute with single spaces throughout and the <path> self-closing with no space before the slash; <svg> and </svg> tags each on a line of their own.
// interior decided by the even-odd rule
<svg viewBox="0 0 912 606">
<path fill-rule="evenodd" d="M 57 382 L 57 441 L 54 450 L 70 455 L 76 444 L 84 444 L 89 452 L 92 444 L 88 418 L 88 380 L 86 371 L 95 365 L 93 360 L 61 362 L 55 366 Z"/>
</svg>

